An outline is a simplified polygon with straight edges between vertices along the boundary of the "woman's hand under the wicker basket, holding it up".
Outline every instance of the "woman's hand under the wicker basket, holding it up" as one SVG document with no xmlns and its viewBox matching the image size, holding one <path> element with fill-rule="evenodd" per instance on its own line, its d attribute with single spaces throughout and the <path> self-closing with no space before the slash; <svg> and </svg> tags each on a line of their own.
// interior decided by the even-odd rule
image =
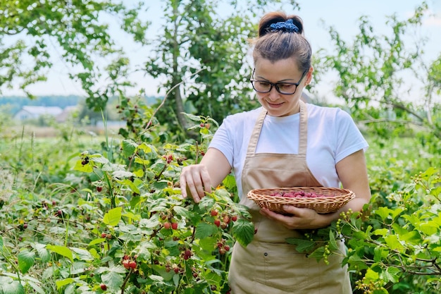
<svg viewBox="0 0 441 294">
<path fill-rule="evenodd" d="M 330 215 L 318 214 L 315 210 L 309 208 L 284 205 L 283 209 L 287 215 L 271 212 L 271 210 L 267 208 L 262 208 L 260 212 L 263 216 L 268 217 L 268 219 L 278 221 L 291 230 L 323 228 L 328 226 L 332 219 L 334 219 Z"/>
</svg>

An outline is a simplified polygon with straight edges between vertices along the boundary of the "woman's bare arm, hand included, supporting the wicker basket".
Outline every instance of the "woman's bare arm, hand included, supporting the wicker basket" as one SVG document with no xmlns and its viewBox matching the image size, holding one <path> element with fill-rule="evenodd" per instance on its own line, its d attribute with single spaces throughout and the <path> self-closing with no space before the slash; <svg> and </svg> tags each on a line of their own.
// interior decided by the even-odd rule
<svg viewBox="0 0 441 294">
<path fill-rule="evenodd" d="M 323 228 L 329 226 L 332 221 L 340 217 L 340 213 L 352 209 L 359 212 L 364 204 L 371 200 L 371 189 L 368 183 L 368 172 L 364 151 L 361 149 L 345 157 L 336 165 L 337 173 L 343 188 L 352 190 L 355 198 L 349 201 L 342 209 L 332 214 L 318 214 L 313 209 L 298 208 L 285 205 L 285 212 L 292 216 L 285 216 L 271 212 L 269 209 L 261 209 L 261 214 L 280 221 L 284 226 L 291 229 Z"/>
</svg>

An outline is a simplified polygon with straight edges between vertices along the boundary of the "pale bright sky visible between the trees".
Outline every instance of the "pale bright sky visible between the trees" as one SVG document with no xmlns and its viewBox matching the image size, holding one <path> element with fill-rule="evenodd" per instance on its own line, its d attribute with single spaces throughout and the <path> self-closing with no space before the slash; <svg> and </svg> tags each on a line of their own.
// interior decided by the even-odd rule
<svg viewBox="0 0 441 294">
<path fill-rule="evenodd" d="M 149 0 L 152 1 L 152 0 Z M 147 3 L 149 3 L 147 1 Z M 396 14 L 402 20 L 411 16 L 414 8 L 421 4 L 418 0 L 298 0 L 299 11 L 292 11 L 290 7 L 285 7 L 285 12 L 288 14 L 297 14 L 304 21 L 304 30 L 306 38 L 311 42 L 313 51 L 320 48 L 330 47 L 330 37 L 328 36 L 323 23 L 326 26 L 333 26 L 339 32 L 340 36 L 347 42 L 351 42 L 352 37 L 358 32 L 357 20 L 361 16 L 368 16 L 368 19 L 375 26 L 375 31 L 378 34 L 390 35 L 390 28 L 385 25 L 387 16 Z M 430 13 L 433 16 L 425 18 L 423 27 L 421 27 L 421 37 L 428 37 L 429 41 L 426 44 L 426 56 L 428 61 L 434 61 L 441 54 L 441 0 L 426 0 Z M 125 4 L 135 3 L 135 0 L 124 0 Z M 153 3 L 153 2 L 150 2 Z M 149 35 L 152 32 L 157 32 L 163 22 L 163 1 L 154 1 L 154 4 L 149 5 L 149 10 L 146 12 L 146 17 L 151 20 L 152 25 L 149 28 Z M 268 8 L 268 11 L 273 8 Z M 148 50 L 135 45 L 127 36 L 120 35 L 117 30 L 111 32 L 116 37 L 118 45 L 123 47 L 134 62 L 145 60 L 148 56 Z M 409 36 L 418 37 L 418 36 Z M 247 44 L 244 44 L 247 46 Z M 56 57 L 56 54 L 54 55 Z M 32 85 L 29 89 L 32 94 L 39 95 L 82 95 L 84 94 L 79 84 L 68 79 L 68 73 L 72 71 L 66 66 L 66 63 L 61 59 L 54 59 L 54 68 L 49 71 L 48 80 L 46 82 L 39 82 L 37 85 Z M 145 88 L 147 94 L 158 95 L 157 89 L 160 80 L 154 80 L 145 76 L 143 73 L 137 73 L 130 76 L 132 81 L 139 85 L 135 90 L 129 94 L 136 94 L 139 88 Z M 12 90 L 2 88 L 2 94 L 22 96 L 24 93 L 14 87 Z M 327 92 L 323 86 L 323 92 Z M 163 94 L 159 92 L 159 94 Z"/>
</svg>

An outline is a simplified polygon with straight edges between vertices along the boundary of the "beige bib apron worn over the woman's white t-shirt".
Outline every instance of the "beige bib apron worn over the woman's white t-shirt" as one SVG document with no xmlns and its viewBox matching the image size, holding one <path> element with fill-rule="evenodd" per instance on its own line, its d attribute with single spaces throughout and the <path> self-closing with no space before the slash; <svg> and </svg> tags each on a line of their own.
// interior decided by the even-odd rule
<svg viewBox="0 0 441 294">
<path fill-rule="evenodd" d="M 331 256 L 330 264 L 316 262 L 294 250 L 285 239 L 300 237 L 299 232 L 271 221 L 259 213 L 257 204 L 247 198 L 251 189 L 321 186 L 306 165 L 308 115 L 300 102 L 299 154 L 256 154 L 266 111 L 262 111 L 251 134 L 242 171 L 241 204 L 251 209 L 257 229 L 254 240 L 232 252 L 229 281 L 232 294 L 349 294 L 352 289 L 342 257 Z M 344 252 L 344 244 L 340 244 Z"/>
</svg>

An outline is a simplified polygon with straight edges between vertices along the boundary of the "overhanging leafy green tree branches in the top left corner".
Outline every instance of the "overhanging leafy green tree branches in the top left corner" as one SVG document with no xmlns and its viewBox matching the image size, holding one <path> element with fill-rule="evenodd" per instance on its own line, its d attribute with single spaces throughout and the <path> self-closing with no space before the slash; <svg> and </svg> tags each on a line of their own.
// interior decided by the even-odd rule
<svg viewBox="0 0 441 294">
<path fill-rule="evenodd" d="M 87 104 L 104 109 L 108 97 L 131 85 L 124 76 L 128 59 L 116 48 L 103 20 L 110 14 L 136 42 L 146 43 L 148 23 L 137 19 L 141 4 L 126 8 L 122 2 L 100 0 L 1 0 L 0 1 L 0 94 L 2 87 L 18 82 L 27 96 L 28 87 L 46 80 L 54 63 L 54 44 L 67 66 L 75 68 L 70 78 L 87 93 Z M 110 60 L 110 61 L 109 61 Z M 104 66 L 101 66 L 104 64 Z M 97 88 L 100 79 L 107 85 Z"/>
</svg>

